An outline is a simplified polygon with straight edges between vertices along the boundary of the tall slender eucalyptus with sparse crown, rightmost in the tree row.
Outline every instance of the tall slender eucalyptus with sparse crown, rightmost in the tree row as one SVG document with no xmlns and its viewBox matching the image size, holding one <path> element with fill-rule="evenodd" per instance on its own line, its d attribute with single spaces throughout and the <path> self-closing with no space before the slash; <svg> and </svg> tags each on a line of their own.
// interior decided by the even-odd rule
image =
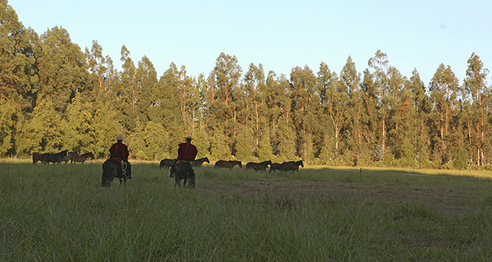
<svg viewBox="0 0 492 262">
<path fill-rule="evenodd" d="M 487 139 L 486 133 L 490 133 L 491 125 L 486 105 L 490 103 L 490 88 L 487 86 L 486 78 L 488 75 L 488 69 L 484 67 L 484 63 L 481 62 L 478 55 L 472 53 L 470 59 L 467 61 L 468 68 L 466 72 L 465 81 L 463 81 L 463 88 L 465 90 L 465 99 L 470 99 L 473 107 L 474 118 L 470 119 L 468 123 L 473 126 L 473 133 L 470 132 L 470 141 L 476 150 L 475 162 L 479 165 L 486 164 L 486 152 L 490 152 L 491 145 L 489 139 Z"/>
</svg>

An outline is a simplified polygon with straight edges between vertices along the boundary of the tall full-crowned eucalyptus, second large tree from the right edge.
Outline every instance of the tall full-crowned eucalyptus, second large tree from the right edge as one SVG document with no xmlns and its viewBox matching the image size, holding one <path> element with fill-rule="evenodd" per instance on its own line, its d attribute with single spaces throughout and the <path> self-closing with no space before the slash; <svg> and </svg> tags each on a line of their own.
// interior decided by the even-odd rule
<svg viewBox="0 0 492 262">
<path fill-rule="evenodd" d="M 434 142 L 433 159 L 446 164 L 450 159 L 449 136 L 453 114 L 458 109 L 458 95 L 460 86 L 451 66 L 445 67 L 441 63 L 429 83 L 429 101 L 432 110 L 429 118 L 432 121 L 431 136 Z M 439 159 L 441 158 L 441 159 Z"/>
</svg>

